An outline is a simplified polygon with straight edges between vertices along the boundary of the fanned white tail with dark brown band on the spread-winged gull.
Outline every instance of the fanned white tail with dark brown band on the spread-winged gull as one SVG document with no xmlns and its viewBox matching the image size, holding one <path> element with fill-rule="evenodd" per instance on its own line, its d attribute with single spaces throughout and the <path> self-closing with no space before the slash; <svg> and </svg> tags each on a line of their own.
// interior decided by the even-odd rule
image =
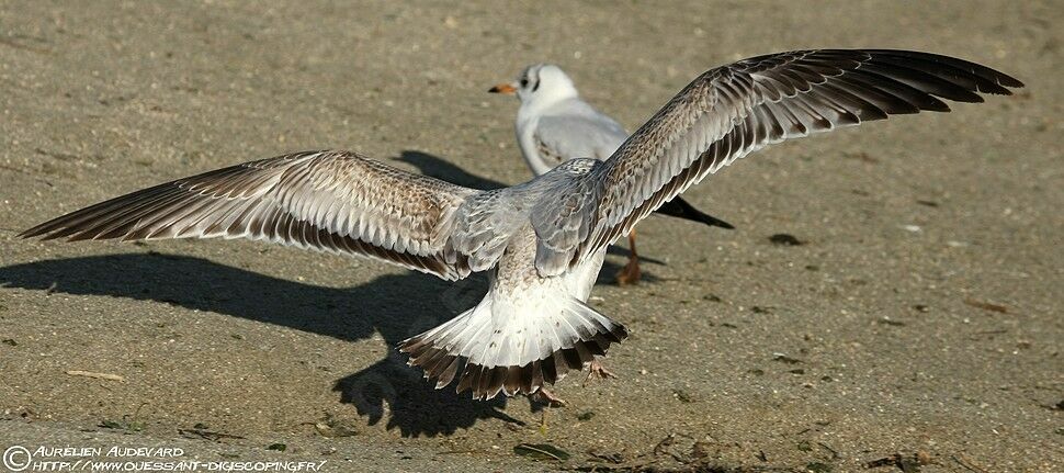
<svg viewBox="0 0 1064 473">
<path fill-rule="evenodd" d="M 476 307 L 399 344 L 409 364 L 425 370 L 442 388 L 459 379 L 455 391 L 490 399 L 532 394 L 580 370 L 627 337 L 623 325 L 587 304 L 566 297 L 555 311 L 502 313 L 485 299 Z M 543 308 L 543 307 L 540 307 Z M 494 313 L 495 312 L 495 313 Z"/>
</svg>

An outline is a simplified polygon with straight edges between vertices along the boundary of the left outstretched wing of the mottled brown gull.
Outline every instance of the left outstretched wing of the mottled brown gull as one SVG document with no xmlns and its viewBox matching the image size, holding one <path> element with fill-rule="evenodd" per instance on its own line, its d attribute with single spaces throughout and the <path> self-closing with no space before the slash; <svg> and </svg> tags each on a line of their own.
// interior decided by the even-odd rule
<svg viewBox="0 0 1064 473">
<path fill-rule="evenodd" d="M 86 207 L 21 234 L 45 239 L 247 238 L 360 255 L 456 280 L 455 214 L 477 191 L 349 151 L 246 162 Z"/>
</svg>

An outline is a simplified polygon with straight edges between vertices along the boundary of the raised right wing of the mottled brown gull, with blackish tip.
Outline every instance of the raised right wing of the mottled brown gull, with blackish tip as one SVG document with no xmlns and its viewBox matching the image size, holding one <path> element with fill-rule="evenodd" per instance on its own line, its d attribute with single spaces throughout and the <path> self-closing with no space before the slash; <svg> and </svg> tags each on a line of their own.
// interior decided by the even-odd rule
<svg viewBox="0 0 1064 473">
<path fill-rule="evenodd" d="M 738 158 L 784 139 L 920 111 L 939 98 L 982 102 L 1023 83 L 985 66 L 907 50 L 800 50 L 744 59 L 697 78 L 588 173 L 588 237 L 540 271 L 609 245 L 664 202 Z M 539 230 L 539 228 L 537 228 Z M 574 241 L 569 241 L 574 243 Z M 555 248 L 565 245 L 546 245 Z"/>
</svg>

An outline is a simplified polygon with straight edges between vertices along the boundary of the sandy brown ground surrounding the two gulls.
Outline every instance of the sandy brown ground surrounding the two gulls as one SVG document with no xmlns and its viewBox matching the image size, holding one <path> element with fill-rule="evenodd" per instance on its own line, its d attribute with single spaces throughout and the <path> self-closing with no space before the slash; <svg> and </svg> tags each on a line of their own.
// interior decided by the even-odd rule
<svg viewBox="0 0 1064 473">
<path fill-rule="evenodd" d="M 1053 1 L 2 2 L 0 447 L 324 471 L 1061 471 L 1062 23 Z M 517 102 L 485 91 L 529 63 L 563 65 L 634 128 L 715 65 L 859 46 L 1029 87 L 779 146 L 686 193 L 738 229 L 654 217 L 635 288 L 609 284 L 610 258 L 593 304 L 634 334 L 609 359 L 621 379 L 564 380 L 562 409 L 433 391 L 393 350 L 471 306 L 477 278 L 244 241 L 15 238 L 291 150 L 516 183 Z"/>
</svg>

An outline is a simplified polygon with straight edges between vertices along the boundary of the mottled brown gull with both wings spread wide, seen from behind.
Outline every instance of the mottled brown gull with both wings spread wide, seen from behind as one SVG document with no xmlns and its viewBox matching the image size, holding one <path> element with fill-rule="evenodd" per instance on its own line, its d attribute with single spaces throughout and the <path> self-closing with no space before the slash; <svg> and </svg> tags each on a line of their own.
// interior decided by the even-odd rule
<svg viewBox="0 0 1064 473">
<path fill-rule="evenodd" d="M 803 50 L 699 76 L 613 155 L 477 191 L 348 151 L 246 162 L 159 184 L 22 233 L 70 240 L 246 238 L 359 255 L 457 280 L 477 305 L 399 344 L 437 387 L 544 393 L 627 336 L 586 304 L 605 248 L 663 203 L 767 145 L 891 114 L 949 111 L 1022 83 L 905 50 Z"/>
</svg>

